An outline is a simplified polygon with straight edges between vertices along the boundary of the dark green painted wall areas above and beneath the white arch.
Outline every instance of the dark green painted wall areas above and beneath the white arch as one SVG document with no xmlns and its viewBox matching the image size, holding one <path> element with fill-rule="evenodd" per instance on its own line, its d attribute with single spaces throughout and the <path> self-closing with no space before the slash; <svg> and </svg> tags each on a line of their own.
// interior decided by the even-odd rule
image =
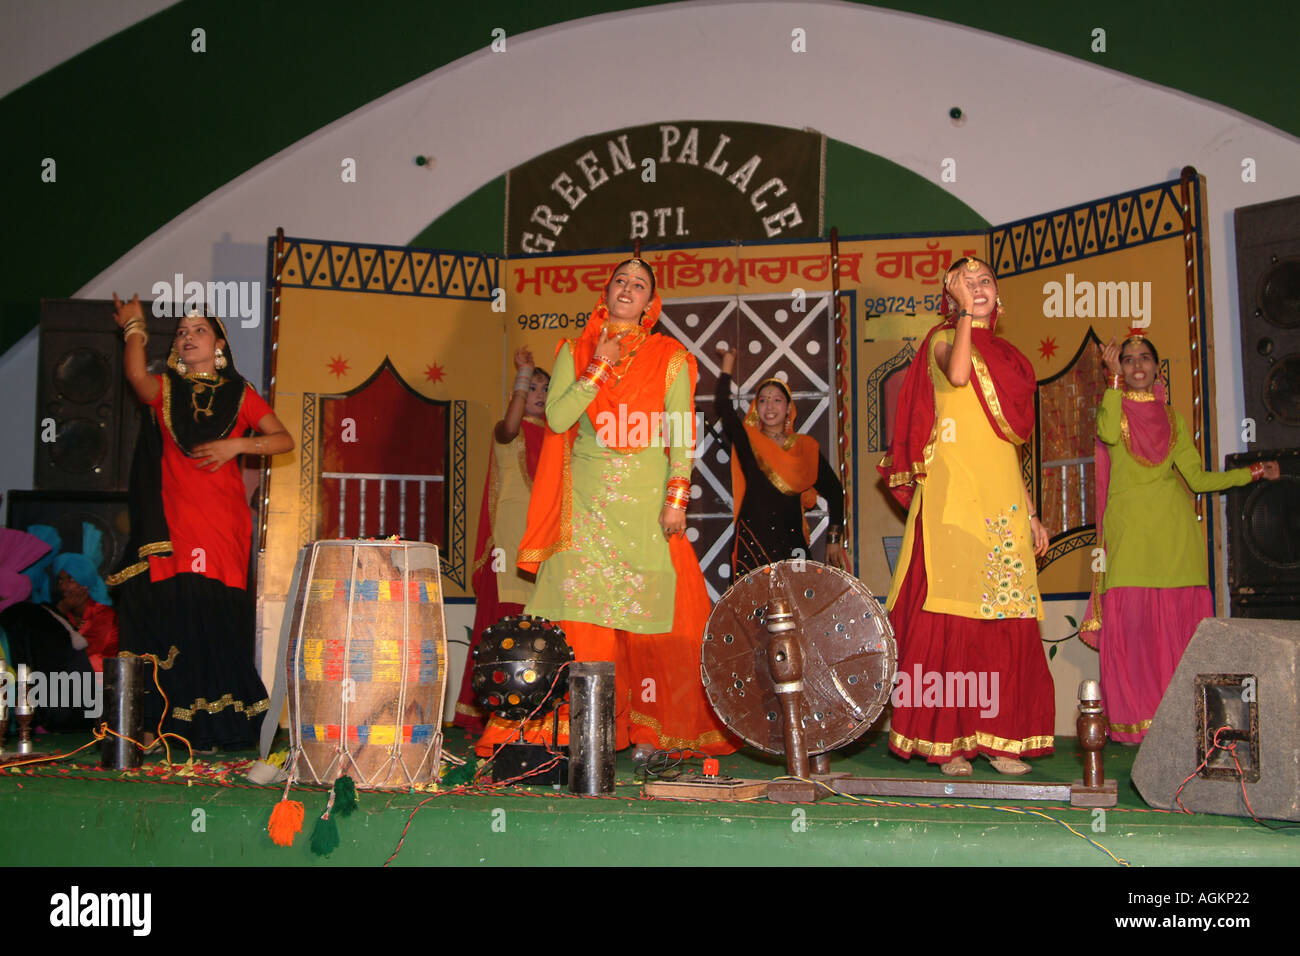
<svg viewBox="0 0 1300 956">
<path fill-rule="evenodd" d="M 567 0 L 448 12 L 426 0 L 182 0 L 87 49 L 0 100 L 8 226 L 0 351 L 35 325 L 40 298 L 74 294 L 209 193 L 341 116 L 481 49 L 494 27 L 519 34 L 649 5 Z M 1258 3 L 876 5 L 965 22 L 1300 133 L 1294 14 L 1280 4 L 1280 26 Z M 202 56 L 190 51 L 195 26 L 207 31 Z M 1104 55 L 1089 51 L 1097 26 L 1106 30 Z M 40 181 L 47 156 L 57 161 L 55 183 Z M 827 166 L 827 224 L 846 234 L 982 225 L 941 189 L 853 147 L 832 143 Z M 499 251 L 502 199 L 502 181 L 494 179 L 413 241 Z"/>
</svg>

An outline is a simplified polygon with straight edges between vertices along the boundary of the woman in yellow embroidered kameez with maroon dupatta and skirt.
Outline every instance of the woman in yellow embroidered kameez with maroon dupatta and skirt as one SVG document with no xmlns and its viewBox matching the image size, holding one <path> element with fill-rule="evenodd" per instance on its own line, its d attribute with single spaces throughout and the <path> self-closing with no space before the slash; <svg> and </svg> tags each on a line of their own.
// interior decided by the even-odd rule
<svg viewBox="0 0 1300 956">
<path fill-rule="evenodd" d="M 994 336 L 997 278 L 957 260 L 945 321 L 904 380 L 893 446 L 879 471 L 907 507 L 888 607 L 898 637 L 889 748 L 968 775 L 989 758 L 1024 774 L 1050 753 L 1052 675 L 1039 635 L 1034 558 L 1048 536 L 1020 477 L 1034 429 L 1034 369 Z"/>
</svg>

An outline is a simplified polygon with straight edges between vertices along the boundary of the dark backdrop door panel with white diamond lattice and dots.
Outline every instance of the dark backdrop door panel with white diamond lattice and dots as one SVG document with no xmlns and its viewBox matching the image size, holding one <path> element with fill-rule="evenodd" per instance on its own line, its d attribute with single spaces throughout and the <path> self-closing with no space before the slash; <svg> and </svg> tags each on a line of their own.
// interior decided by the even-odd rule
<svg viewBox="0 0 1300 956">
<path fill-rule="evenodd" d="M 837 444 L 832 382 L 835 324 L 829 294 L 810 294 L 805 311 L 790 295 L 712 297 L 663 303 L 659 330 L 685 345 L 699 368 L 696 411 L 705 416 L 698 434 L 688 537 L 705 572 L 708 596 L 716 601 L 732 585 L 731 455 L 714 407 L 720 372 L 719 343 L 738 347 L 732 399 L 740 415 L 749 408 L 754 388 L 764 378 L 781 378 L 797 407 L 794 428 L 811 434 L 836 467 Z M 736 394 L 738 389 L 738 394 Z M 809 512 L 812 554 L 822 559 L 828 524 L 826 501 Z"/>
</svg>

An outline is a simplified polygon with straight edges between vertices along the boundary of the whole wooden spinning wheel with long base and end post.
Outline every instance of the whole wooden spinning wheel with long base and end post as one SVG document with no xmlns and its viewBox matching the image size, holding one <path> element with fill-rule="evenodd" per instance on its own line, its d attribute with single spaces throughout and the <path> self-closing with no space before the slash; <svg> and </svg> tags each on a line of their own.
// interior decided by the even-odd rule
<svg viewBox="0 0 1300 956">
<path fill-rule="evenodd" d="M 1049 800 L 1114 806 L 1105 779 L 1106 719 L 1096 680 L 1079 687 L 1083 777 L 1074 783 L 850 777 L 831 773 L 829 754 L 861 736 L 884 710 L 897 654 L 884 609 L 855 578 L 815 562 L 785 561 L 737 581 L 708 619 L 702 674 L 727 727 L 760 750 L 785 757 L 772 780 L 775 803 L 814 803 L 832 793 Z"/>
</svg>

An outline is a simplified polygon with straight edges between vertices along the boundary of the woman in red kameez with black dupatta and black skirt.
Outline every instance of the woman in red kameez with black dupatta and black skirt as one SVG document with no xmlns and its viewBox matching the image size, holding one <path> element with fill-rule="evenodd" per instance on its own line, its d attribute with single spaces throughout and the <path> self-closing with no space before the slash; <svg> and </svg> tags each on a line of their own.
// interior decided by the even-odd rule
<svg viewBox="0 0 1300 956">
<path fill-rule="evenodd" d="M 110 580 L 122 585 L 121 648 L 162 662 L 164 731 L 200 752 L 251 747 L 268 700 L 254 661 L 239 457 L 282 454 L 294 440 L 235 371 L 220 319 L 183 316 L 166 369 L 150 375 L 140 299 L 113 302 L 126 378 L 150 410 L 131 466 L 131 551 Z"/>
</svg>

